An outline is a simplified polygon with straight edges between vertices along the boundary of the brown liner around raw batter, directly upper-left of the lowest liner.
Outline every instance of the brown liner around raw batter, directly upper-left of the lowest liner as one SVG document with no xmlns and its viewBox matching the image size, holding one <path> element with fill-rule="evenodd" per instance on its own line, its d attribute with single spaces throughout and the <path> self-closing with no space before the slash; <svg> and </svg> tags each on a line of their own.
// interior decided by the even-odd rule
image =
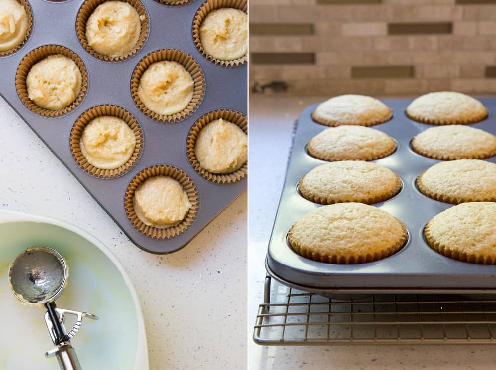
<svg viewBox="0 0 496 370">
<path fill-rule="evenodd" d="M 108 115 L 124 120 L 124 122 L 126 122 L 133 130 L 134 135 L 136 135 L 136 146 L 134 148 L 134 153 L 125 164 L 116 169 L 101 169 L 88 163 L 86 158 L 84 158 L 81 153 L 81 148 L 79 146 L 81 135 L 83 134 L 86 125 L 94 118 Z M 129 171 L 136 164 L 141 155 L 141 151 L 143 150 L 143 140 L 143 131 L 141 130 L 141 126 L 136 118 L 134 118 L 134 116 L 124 108 L 114 105 L 93 106 L 83 112 L 72 126 L 69 137 L 70 151 L 77 164 L 79 164 L 79 166 L 90 175 L 102 178 L 117 177 Z"/>
</svg>

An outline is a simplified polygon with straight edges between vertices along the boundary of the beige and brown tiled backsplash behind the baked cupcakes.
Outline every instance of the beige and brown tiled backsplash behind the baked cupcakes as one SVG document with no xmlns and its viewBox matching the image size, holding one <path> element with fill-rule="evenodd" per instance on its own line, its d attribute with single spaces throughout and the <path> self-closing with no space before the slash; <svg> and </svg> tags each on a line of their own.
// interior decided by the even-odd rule
<svg viewBox="0 0 496 370">
<path fill-rule="evenodd" d="M 250 0 L 253 91 L 496 93 L 496 0 Z"/>
</svg>

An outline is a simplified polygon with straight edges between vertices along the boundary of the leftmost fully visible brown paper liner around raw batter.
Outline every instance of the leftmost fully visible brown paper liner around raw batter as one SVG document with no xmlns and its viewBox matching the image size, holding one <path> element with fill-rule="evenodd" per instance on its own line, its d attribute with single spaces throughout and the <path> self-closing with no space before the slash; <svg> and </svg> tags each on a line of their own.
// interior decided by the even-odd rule
<svg viewBox="0 0 496 370">
<path fill-rule="evenodd" d="M 50 110 L 37 106 L 35 102 L 29 99 L 28 88 L 26 86 L 26 78 L 31 67 L 50 55 L 63 55 L 72 59 L 81 71 L 81 91 L 79 92 L 79 95 L 70 105 L 59 110 Z M 56 117 L 74 109 L 83 100 L 87 86 L 88 74 L 86 72 L 86 67 L 84 66 L 83 61 L 72 50 L 60 45 L 44 45 L 27 53 L 27 55 L 24 56 L 24 58 L 19 63 L 17 72 L 15 73 L 15 89 L 17 90 L 17 95 L 19 95 L 22 103 L 24 103 L 24 105 L 31 111 L 46 117 Z"/>
</svg>

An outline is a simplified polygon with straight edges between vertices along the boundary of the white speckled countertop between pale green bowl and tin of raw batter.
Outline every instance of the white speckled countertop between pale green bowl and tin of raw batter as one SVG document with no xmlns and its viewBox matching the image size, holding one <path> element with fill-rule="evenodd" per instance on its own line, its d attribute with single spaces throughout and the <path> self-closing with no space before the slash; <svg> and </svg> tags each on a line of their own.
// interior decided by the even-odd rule
<svg viewBox="0 0 496 370">
<path fill-rule="evenodd" d="M 76 224 L 124 265 L 141 301 L 150 369 L 246 368 L 246 192 L 185 248 L 134 246 L 0 98 L 0 208 Z"/>
</svg>

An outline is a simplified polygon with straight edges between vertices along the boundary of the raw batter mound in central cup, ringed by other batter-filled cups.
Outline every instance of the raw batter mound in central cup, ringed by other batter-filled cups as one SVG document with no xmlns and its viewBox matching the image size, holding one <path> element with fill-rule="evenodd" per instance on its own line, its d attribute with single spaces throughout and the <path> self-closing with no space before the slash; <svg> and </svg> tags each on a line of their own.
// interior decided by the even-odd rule
<svg viewBox="0 0 496 370">
<path fill-rule="evenodd" d="M 138 97 L 152 112 L 171 115 L 184 110 L 194 93 L 191 74 L 175 61 L 151 64 L 141 76 Z"/>
</svg>

